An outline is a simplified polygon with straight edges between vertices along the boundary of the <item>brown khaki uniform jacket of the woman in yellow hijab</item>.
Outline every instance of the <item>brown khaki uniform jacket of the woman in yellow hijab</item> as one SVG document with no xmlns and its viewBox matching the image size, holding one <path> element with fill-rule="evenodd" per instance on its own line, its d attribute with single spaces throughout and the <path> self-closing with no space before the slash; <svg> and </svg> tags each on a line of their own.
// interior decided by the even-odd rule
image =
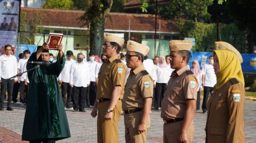
<svg viewBox="0 0 256 143">
<path fill-rule="evenodd" d="M 245 143 L 245 89 L 236 81 L 212 89 L 207 102 L 206 143 Z"/>
</svg>

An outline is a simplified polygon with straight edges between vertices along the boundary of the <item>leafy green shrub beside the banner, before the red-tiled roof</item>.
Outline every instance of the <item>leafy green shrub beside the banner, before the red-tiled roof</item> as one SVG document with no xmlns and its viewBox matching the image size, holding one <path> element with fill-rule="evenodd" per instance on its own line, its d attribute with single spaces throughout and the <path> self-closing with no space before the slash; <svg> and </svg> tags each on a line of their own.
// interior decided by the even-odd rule
<svg viewBox="0 0 256 143">
<path fill-rule="evenodd" d="M 44 14 L 35 13 L 36 19 L 28 21 L 27 13 L 20 12 L 20 33 L 19 33 L 19 43 L 20 44 L 34 44 L 34 36 L 36 32 L 43 32 L 44 27 L 42 26 L 42 17 Z M 29 33 L 32 32 L 32 33 Z"/>
</svg>

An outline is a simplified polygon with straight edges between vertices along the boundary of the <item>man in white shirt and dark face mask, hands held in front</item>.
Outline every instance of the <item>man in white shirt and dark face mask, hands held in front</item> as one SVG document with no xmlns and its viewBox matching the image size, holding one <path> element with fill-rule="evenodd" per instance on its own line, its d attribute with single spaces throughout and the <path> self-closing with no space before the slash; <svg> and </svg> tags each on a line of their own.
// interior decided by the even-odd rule
<svg viewBox="0 0 256 143">
<path fill-rule="evenodd" d="M 71 65 L 70 69 L 70 87 L 73 87 L 73 108 L 74 112 L 85 112 L 86 93 L 89 90 L 91 71 L 88 68 L 88 62 L 83 62 L 84 55 L 77 55 L 77 62 Z"/>
</svg>

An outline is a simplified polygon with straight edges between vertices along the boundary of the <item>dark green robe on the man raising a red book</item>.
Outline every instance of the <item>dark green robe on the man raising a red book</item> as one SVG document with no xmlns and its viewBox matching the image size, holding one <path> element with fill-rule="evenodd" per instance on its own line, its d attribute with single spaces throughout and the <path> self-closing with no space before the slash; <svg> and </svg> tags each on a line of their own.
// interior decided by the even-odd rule
<svg viewBox="0 0 256 143">
<path fill-rule="evenodd" d="M 69 138 L 69 124 L 64 109 L 57 77 L 65 64 L 57 61 L 49 67 L 40 66 L 36 70 L 28 72 L 29 92 L 27 96 L 27 109 L 24 118 L 22 140 L 31 141 L 37 139 L 60 140 Z M 36 60 L 36 52 L 28 61 L 42 61 L 40 56 Z M 34 64 L 27 64 L 27 70 Z"/>
</svg>

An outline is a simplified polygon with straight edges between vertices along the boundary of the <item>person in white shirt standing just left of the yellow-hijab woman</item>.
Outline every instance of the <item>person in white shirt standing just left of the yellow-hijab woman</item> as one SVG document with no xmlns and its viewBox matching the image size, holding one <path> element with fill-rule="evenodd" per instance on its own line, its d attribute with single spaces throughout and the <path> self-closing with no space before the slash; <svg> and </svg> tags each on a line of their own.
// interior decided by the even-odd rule
<svg viewBox="0 0 256 143">
<path fill-rule="evenodd" d="M 216 74 L 213 69 L 213 56 L 209 57 L 209 64 L 205 64 L 202 69 L 202 87 L 203 87 L 203 113 L 207 113 L 208 95 L 212 91 L 212 87 L 216 84 Z"/>
</svg>

